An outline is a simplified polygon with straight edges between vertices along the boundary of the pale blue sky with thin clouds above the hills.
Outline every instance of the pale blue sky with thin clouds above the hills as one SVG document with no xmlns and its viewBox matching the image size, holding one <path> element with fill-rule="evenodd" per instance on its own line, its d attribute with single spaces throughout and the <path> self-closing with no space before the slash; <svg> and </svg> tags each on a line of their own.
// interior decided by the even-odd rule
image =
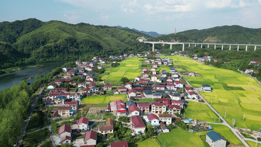
<svg viewBox="0 0 261 147">
<path fill-rule="evenodd" d="M 156 31 L 261 27 L 261 0 L 1 0 L 0 22 L 36 18 Z"/>
</svg>

